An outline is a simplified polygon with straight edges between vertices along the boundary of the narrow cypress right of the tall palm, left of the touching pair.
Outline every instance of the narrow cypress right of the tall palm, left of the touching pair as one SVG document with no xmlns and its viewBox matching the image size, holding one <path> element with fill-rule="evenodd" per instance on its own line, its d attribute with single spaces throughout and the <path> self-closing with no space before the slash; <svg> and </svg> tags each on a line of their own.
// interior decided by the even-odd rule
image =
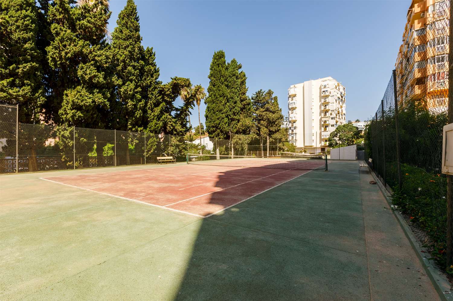
<svg viewBox="0 0 453 301">
<path fill-rule="evenodd" d="M 217 51 L 212 56 L 209 68 L 209 86 L 207 87 L 208 96 L 206 103 L 206 131 L 211 138 L 225 139 L 229 134 L 228 128 L 228 75 L 226 71 L 225 52 Z M 219 148 L 216 148 L 217 156 Z"/>
</svg>

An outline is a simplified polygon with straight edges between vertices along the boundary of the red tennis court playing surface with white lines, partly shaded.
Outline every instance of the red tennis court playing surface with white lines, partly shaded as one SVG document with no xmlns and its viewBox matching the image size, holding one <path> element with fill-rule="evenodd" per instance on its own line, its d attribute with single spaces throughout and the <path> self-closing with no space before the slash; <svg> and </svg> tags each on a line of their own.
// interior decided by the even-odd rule
<svg viewBox="0 0 453 301">
<path fill-rule="evenodd" d="M 207 217 L 308 171 L 178 165 L 42 179 Z"/>
</svg>

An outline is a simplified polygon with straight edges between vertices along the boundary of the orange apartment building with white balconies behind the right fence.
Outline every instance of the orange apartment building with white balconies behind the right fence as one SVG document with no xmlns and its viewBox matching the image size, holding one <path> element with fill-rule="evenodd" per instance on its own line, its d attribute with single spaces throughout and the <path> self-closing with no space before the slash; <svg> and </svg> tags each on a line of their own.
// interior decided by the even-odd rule
<svg viewBox="0 0 453 301">
<path fill-rule="evenodd" d="M 449 0 L 413 0 L 396 59 L 398 102 L 447 109 Z"/>
</svg>

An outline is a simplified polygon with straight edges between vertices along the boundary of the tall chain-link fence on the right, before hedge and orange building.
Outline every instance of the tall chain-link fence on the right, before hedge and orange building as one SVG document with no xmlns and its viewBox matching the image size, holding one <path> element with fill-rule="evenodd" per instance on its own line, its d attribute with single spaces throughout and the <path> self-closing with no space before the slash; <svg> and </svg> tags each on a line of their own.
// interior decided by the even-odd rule
<svg viewBox="0 0 453 301">
<path fill-rule="evenodd" d="M 453 256 L 447 214 L 451 176 L 441 173 L 441 161 L 443 126 L 452 106 L 449 2 L 436 2 L 429 8 L 425 27 L 407 34 L 384 97 L 365 131 L 366 159 L 372 159 L 372 169 L 393 193 L 393 204 L 401 208 L 432 258 L 447 270 Z"/>
</svg>

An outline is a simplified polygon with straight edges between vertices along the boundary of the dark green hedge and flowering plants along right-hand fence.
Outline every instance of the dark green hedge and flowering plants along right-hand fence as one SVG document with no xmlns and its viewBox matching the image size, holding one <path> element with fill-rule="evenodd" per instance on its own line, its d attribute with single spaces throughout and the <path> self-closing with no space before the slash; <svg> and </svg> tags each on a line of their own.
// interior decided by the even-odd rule
<svg viewBox="0 0 453 301">
<path fill-rule="evenodd" d="M 447 176 L 441 173 L 447 107 L 426 96 L 395 102 L 394 75 L 365 130 L 366 160 L 372 158 L 372 169 L 393 192 L 393 204 L 401 208 L 432 259 L 446 268 L 452 256 L 447 245 L 452 239 L 447 231 Z"/>
</svg>

